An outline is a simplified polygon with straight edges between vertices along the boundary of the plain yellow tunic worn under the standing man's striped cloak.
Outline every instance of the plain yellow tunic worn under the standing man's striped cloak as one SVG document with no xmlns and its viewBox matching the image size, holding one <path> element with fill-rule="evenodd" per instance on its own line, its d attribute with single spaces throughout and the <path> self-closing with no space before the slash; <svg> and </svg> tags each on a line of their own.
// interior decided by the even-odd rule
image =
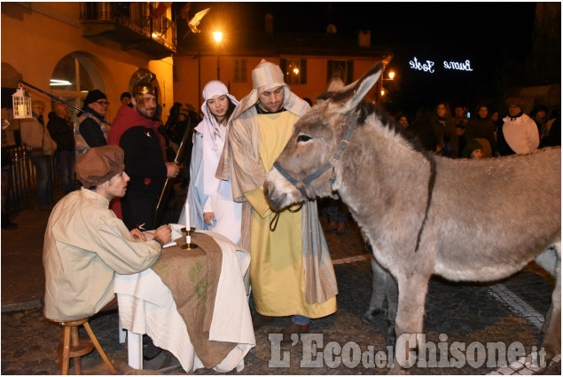
<svg viewBox="0 0 563 377">
<path fill-rule="evenodd" d="M 289 111 L 258 115 L 260 159 L 264 171 L 272 168 L 298 119 L 299 116 Z M 270 221 L 275 214 L 271 212 L 262 188 L 246 192 L 245 196 L 254 208 L 250 280 L 256 310 L 266 316 L 299 314 L 309 318 L 321 318 L 335 312 L 335 296 L 320 303 L 305 300 L 301 210 L 281 212 L 276 231 L 270 232 Z"/>
</svg>

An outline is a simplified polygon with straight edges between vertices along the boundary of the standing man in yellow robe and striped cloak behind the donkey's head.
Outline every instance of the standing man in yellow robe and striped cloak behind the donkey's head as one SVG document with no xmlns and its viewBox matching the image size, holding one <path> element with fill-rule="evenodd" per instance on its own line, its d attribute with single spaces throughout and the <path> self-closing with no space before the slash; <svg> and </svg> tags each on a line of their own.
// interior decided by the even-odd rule
<svg viewBox="0 0 563 377">
<path fill-rule="evenodd" d="M 309 318 L 336 311 L 338 288 L 316 201 L 276 213 L 262 190 L 309 104 L 291 92 L 281 69 L 264 59 L 252 79 L 253 90 L 232 114 L 216 177 L 231 180 L 234 200 L 243 203 L 241 246 L 251 255 L 254 329 L 272 317 L 293 316 L 283 338 L 291 342 L 292 334 L 308 331 Z"/>
</svg>

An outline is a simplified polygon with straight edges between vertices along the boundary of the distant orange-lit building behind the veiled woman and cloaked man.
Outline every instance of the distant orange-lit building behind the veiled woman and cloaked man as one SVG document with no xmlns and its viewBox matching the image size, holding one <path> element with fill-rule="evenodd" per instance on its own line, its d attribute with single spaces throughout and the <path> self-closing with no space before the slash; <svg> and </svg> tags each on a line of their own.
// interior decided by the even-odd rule
<svg viewBox="0 0 563 377">
<path fill-rule="evenodd" d="M 359 35 L 357 41 L 335 33 L 264 32 L 225 37 L 216 44 L 211 32 L 202 31 L 188 35 L 183 42 L 185 48 L 178 46 L 174 56 L 176 101 L 199 108 L 201 90 L 207 82 L 217 79 L 241 99 L 252 90 L 252 70 L 266 59 L 282 68 L 285 82 L 295 94 L 315 102 L 332 75 L 340 75 L 346 83 L 354 82 L 378 61 L 387 64 L 393 58 L 389 49 L 369 42 L 362 45 L 364 35 Z M 367 98 L 377 101 L 377 90 Z"/>
</svg>

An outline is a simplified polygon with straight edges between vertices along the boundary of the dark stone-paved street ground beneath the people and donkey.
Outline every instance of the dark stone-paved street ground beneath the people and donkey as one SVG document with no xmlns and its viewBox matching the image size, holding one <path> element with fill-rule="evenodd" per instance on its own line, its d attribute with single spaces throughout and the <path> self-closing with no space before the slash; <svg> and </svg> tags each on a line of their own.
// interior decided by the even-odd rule
<svg viewBox="0 0 563 377">
<path fill-rule="evenodd" d="M 41 232 L 41 224 L 32 224 L 33 219 L 41 223 L 41 216 L 33 213 L 23 214 L 27 219 L 26 226 L 32 232 Z M 43 216 L 43 221 L 45 221 Z M 322 218 L 323 224 L 325 219 Z M 36 222 L 35 222 L 36 223 Z M 23 222 L 20 221 L 20 224 Z M 46 222 L 45 222 L 46 224 Z M 44 224 L 43 224 L 44 226 Z M 43 228 L 44 229 L 44 228 Z M 26 302 L 16 302 L 16 298 L 26 295 L 25 292 L 16 292 L 18 287 L 22 291 L 31 289 L 36 283 L 31 283 L 16 273 L 10 273 L 10 281 L 4 280 L 4 269 L 11 268 L 11 260 L 17 255 L 22 255 L 24 249 L 8 249 L 5 239 L 6 233 L 2 231 L 2 374 L 58 374 L 57 347 L 59 346 L 60 329 L 58 326 L 47 322 L 42 315 L 41 303 L 37 303 L 36 294 L 28 295 L 28 302 L 32 307 L 25 309 Z M 16 237 L 16 236 L 12 236 Z M 20 240 L 25 239 L 19 236 Z M 22 238 L 23 237 L 23 238 Z M 356 257 L 356 262 L 335 265 L 340 295 L 338 295 L 338 311 L 332 316 L 313 320 L 310 324 L 309 339 L 322 340 L 317 352 L 310 352 L 303 348 L 303 342 L 293 346 L 286 346 L 281 350 L 272 348 L 270 334 L 278 334 L 289 323 L 289 318 L 276 318 L 270 324 L 256 331 L 256 347 L 251 350 L 245 359 L 245 369 L 237 373 L 232 371 L 226 374 L 386 374 L 388 368 L 385 362 L 378 362 L 380 367 L 371 363 L 370 359 L 362 360 L 360 355 L 366 354 L 387 356 L 385 335 L 387 322 L 383 314 L 379 314 L 371 325 L 362 321 L 364 310 L 367 309 L 371 294 L 371 267 L 364 255 L 364 243 L 354 223 L 350 223 L 347 231 L 342 236 L 335 233 L 326 233 L 333 259 Z M 15 242 L 12 242 L 14 244 Z M 35 250 L 36 251 L 36 250 Z M 35 253 L 34 251 L 34 253 Z M 27 263 L 20 265 L 21 271 L 39 271 L 37 258 L 41 263 L 41 253 L 35 257 L 27 255 L 22 258 Z M 31 261 L 31 262 L 30 262 Z M 32 265 L 33 264 L 33 265 Z M 41 264 L 39 264 L 41 265 Z M 35 273 L 34 272 L 34 273 Z M 18 279 L 19 278 L 19 279 Z M 6 283 L 6 281 L 8 281 Z M 542 315 L 549 306 L 553 279 L 531 263 L 520 273 L 510 279 L 505 279 L 497 284 L 503 284 L 522 300 L 528 302 Z M 43 287 L 32 290 L 39 292 Z M 494 295 L 489 294 L 491 285 L 486 284 L 453 284 L 444 279 L 433 278 L 430 281 L 426 300 L 425 332 L 426 342 L 446 344 L 451 350 L 454 342 L 464 343 L 469 346 L 473 343 L 474 350 L 481 344 L 488 342 L 503 342 L 506 345 L 520 342 L 528 355 L 533 347 L 537 347 L 542 338 L 539 329 L 515 313 L 505 302 L 498 301 Z M 4 297 L 5 296 L 5 297 Z M 35 302 L 35 303 L 33 303 Z M 13 310 L 18 308 L 20 310 Z M 251 305 L 252 307 L 252 305 Z M 4 310 L 6 309 L 6 310 Z M 11 310 L 8 310 L 11 309 Z M 252 308 L 251 308 L 252 309 Z M 145 365 L 145 371 L 137 371 L 127 365 L 127 346 L 118 342 L 118 316 L 117 313 L 92 318 L 90 325 L 98 336 L 106 354 L 113 361 L 121 374 L 185 374 L 177 364 L 175 357 L 168 357 L 163 353 L 157 359 Z M 81 330 L 81 335 L 87 335 Z M 447 339 L 444 339 L 447 337 Z M 340 355 L 340 350 L 344 354 Z M 371 352 L 372 350 L 372 352 Z M 286 352 L 286 353 L 285 353 Z M 319 353 L 320 352 L 320 353 Z M 356 353 L 355 353 L 356 352 Z M 278 356 L 277 356 L 278 355 Z M 348 356 L 347 355 L 351 355 Z M 468 355 L 468 356 L 467 356 Z M 335 357 L 334 357 L 335 356 Z M 467 360 L 471 355 L 466 354 Z M 319 358 L 320 357 L 320 358 Z M 341 357 L 341 358 L 339 358 Z M 451 355 L 450 355 L 451 357 Z M 281 362 L 281 359 L 288 363 Z M 107 374 L 98 353 L 93 351 L 90 355 L 82 357 L 83 373 Z M 319 363 L 319 360 L 321 361 Z M 431 362 L 432 359 L 428 358 Z M 168 364 L 167 364 L 168 363 Z M 318 363 L 317 366 L 316 363 Z M 72 363 L 71 363 L 72 364 Z M 420 365 L 411 368 L 412 374 L 489 374 L 489 373 L 517 373 L 514 368 L 499 369 L 497 365 L 478 365 L 469 362 L 461 363 L 460 367 L 438 366 L 432 368 Z M 175 366 L 176 365 L 176 366 Z M 163 366 L 169 366 L 163 371 Z M 161 372 L 158 372 L 158 370 Z M 559 361 L 536 370 L 522 367 L 518 373 L 537 373 L 560 375 Z M 73 370 L 71 369 L 71 373 Z M 219 374 L 210 370 L 199 370 L 194 374 Z"/>
</svg>

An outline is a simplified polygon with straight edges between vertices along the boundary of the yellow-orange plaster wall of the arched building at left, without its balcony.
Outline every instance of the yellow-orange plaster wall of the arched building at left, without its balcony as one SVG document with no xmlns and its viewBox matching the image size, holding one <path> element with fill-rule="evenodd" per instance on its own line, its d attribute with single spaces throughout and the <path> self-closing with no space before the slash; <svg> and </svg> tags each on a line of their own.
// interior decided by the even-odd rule
<svg viewBox="0 0 563 377">
<path fill-rule="evenodd" d="M 105 37 L 83 37 L 79 3 L 23 4 L 29 4 L 31 9 L 2 3 L 2 63 L 14 67 L 24 81 L 51 92 L 49 83 L 59 60 L 70 53 L 82 52 L 101 74 L 104 91 L 111 102 L 106 114 L 110 122 L 121 105 L 121 93 L 129 90 L 131 76 L 139 68 L 149 69 L 160 84 L 166 122 L 168 109 L 174 102 L 171 58 L 151 60 L 140 51 L 122 51 L 119 43 Z M 44 99 L 46 111 L 49 110 L 51 98 L 35 90 L 30 94 Z"/>
</svg>

